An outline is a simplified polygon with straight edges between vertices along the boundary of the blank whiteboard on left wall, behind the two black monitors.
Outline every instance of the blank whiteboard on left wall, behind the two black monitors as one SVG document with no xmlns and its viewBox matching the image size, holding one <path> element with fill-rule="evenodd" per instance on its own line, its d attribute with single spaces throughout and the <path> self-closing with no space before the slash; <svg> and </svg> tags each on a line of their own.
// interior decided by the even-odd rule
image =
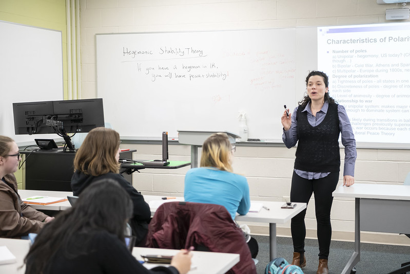
<svg viewBox="0 0 410 274">
<path fill-rule="evenodd" d="M 51 135 L 15 135 L 14 102 L 63 100 L 62 33 L 0 21 L 0 134 L 18 144 Z"/>
</svg>

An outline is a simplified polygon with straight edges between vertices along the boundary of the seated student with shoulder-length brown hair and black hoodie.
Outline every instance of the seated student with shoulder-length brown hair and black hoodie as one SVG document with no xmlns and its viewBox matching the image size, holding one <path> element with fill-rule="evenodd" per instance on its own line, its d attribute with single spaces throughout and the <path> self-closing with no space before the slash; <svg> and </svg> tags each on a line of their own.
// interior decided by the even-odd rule
<svg viewBox="0 0 410 274">
<path fill-rule="evenodd" d="M 144 196 L 136 191 L 122 174 L 119 174 L 119 159 L 120 134 L 106 127 L 92 129 L 75 155 L 71 189 L 75 196 L 81 196 L 83 190 L 92 185 L 95 180 L 111 178 L 118 181 L 127 191 L 134 205 L 129 224 L 136 238 L 135 246 L 144 246 L 151 210 Z"/>
</svg>

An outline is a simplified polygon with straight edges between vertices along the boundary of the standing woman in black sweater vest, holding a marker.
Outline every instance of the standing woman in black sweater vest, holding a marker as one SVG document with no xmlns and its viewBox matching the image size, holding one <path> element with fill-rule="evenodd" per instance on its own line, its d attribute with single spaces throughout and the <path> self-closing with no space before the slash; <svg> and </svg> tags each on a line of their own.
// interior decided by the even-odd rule
<svg viewBox="0 0 410 274">
<path fill-rule="evenodd" d="M 292 183 L 291 202 L 308 203 L 315 195 L 319 266 L 317 274 L 328 273 L 327 260 L 331 240 L 330 210 L 332 193 L 339 181 L 339 135 L 344 145 L 343 186 L 355 183 L 356 141 L 352 126 L 342 105 L 328 93 L 328 77 L 311 71 L 306 77 L 307 95 L 294 113 L 282 114 L 282 139 L 287 148 L 298 143 Z M 290 228 L 294 245 L 292 264 L 306 266 L 304 242 L 306 209 L 292 218 Z"/>
</svg>

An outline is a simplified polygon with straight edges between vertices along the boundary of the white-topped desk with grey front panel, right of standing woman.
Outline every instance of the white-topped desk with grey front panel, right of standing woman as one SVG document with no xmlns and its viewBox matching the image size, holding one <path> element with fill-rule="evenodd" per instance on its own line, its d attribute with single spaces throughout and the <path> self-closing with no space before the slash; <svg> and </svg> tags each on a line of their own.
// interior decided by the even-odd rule
<svg viewBox="0 0 410 274">
<path fill-rule="evenodd" d="M 339 187 L 334 197 L 355 199 L 355 251 L 342 274 L 360 261 L 360 231 L 410 233 L 410 186 L 354 184 Z"/>
</svg>

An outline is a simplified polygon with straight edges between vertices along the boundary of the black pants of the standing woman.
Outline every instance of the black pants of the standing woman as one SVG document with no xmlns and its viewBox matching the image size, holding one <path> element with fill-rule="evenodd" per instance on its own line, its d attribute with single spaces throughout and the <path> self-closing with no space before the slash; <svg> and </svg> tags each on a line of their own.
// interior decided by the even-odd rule
<svg viewBox="0 0 410 274">
<path fill-rule="evenodd" d="M 330 209 L 333 203 L 332 192 L 335 191 L 339 181 L 339 172 L 331 172 L 324 178 L 305 179 L 294 171 L 290 189 L 290 201 L 294 203 L 308 203 L 314 193 L 316 223 L 319 242 L 319 259 L 327 259 L 330 249 L 331 224 Z M 294 244 L 294 252 L 305 252 L 305 226 L 306 209 L 292 218 L 290 230 Z"/>
</svg>

